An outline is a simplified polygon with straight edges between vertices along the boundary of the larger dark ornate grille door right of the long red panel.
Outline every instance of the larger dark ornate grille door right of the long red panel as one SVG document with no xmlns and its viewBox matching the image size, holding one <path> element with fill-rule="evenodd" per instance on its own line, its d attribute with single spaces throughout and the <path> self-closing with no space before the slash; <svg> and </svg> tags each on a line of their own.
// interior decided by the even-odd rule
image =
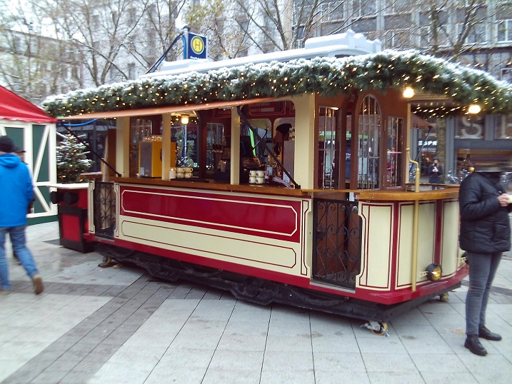
<svg viewBox="0 0 512 384">
<path fill-rule="evenodd" d="M 313 278 L 355 289 L 361 272 L 358 203 L 315 198 L 313 212 Z"/>
</svg>

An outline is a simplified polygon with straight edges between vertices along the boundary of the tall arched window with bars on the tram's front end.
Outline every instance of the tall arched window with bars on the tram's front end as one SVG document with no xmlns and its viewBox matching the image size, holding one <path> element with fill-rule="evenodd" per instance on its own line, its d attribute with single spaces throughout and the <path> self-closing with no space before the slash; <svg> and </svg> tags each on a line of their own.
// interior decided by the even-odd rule
<svg viewBox="0 0 512 384">
<path fill-rule="evenodd" d="M 381 108 L 376 98 L 366 96 L 359 107 L 358 188 L 376 189 L 378 185 Z"/>
</svg>

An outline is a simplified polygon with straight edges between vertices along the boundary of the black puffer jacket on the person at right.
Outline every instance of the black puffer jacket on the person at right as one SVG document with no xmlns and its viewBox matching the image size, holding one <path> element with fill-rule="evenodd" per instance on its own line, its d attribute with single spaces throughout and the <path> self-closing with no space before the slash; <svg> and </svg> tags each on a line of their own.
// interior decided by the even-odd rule
<svg viewBox="0 0 512 384">
<path fill-rule="evenodd" d="M 511 248 L 508 212 L 498 196 L 506 193 L 499 172 L 473 172 L 461 183 L 458 203 L 461 211 L 459 243 L 464 251 L 505 252 Z"/>
</svg>

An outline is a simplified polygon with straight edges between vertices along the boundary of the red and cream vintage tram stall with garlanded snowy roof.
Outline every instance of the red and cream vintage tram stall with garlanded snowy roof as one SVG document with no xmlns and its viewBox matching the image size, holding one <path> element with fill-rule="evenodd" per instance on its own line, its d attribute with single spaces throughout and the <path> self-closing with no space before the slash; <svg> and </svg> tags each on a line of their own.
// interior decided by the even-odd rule
<svg viewBox="0 0 512 384">
<path fill-rule="evenodd" d="M 369 320 L 375 333 L 446 298 L 467 275 L 458 188 L 407 184 L 415 98 L 402 91 L 503 111 L 488 95 L 510 98 L 510 85 L 378 52 L 357 34 L 332 38 L 46 100 L 63 120 L 116 118 L 117 176 L 90 179 L 84 236 L 154 276 Z"/>
</svg>

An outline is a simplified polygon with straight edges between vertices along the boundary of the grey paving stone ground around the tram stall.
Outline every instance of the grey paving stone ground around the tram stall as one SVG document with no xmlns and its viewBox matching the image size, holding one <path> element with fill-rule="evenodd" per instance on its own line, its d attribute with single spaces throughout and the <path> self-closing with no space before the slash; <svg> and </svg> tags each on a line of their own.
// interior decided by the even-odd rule
<svg viewBox="0 0 512 384">
<path fill-rule="evenodd" d="M 503 258 L 481 358 L 463 347 L 467 281 L 388 324 L 252 305 L 139 268 L 100 268 L 99 253 L 59 246 L 57 223 L 27 228 L 44 278 L 34 295 L 11 258 L 0 295 L 0 383 L 510 383 L 512 253 Z M 9 245 L 6 247 L 9 249 Z"/>
</svg>

